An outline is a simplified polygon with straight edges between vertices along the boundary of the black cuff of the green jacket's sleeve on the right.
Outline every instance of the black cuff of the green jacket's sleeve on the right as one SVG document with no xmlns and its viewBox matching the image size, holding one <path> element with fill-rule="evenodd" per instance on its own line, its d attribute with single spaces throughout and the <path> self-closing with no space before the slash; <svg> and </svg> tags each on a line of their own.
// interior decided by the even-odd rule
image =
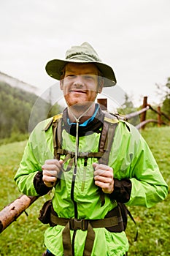
<svg viewBox="0 0 170 256">
<path fill-rule="evenodd" d="M 129 178 L 121 180 L 114 178 L 114 191 L 110 197 L 119 203 L 127 203 L 131 197 L 131 180 Z"/>
</svg>

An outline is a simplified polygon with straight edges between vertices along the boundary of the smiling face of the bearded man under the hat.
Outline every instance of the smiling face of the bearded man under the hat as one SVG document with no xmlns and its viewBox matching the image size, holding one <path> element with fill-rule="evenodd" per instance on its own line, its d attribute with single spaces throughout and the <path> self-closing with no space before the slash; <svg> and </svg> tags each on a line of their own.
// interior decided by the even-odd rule
<svg viewBox="0 0 170 256">
<path fill-rule="evenodd" d="M 94 102 L 98 88 L 98 69 L 95 64 L 66 64 L 65 75 L 61 80 L 61 90 L 67 105 Z"/>
</svg>

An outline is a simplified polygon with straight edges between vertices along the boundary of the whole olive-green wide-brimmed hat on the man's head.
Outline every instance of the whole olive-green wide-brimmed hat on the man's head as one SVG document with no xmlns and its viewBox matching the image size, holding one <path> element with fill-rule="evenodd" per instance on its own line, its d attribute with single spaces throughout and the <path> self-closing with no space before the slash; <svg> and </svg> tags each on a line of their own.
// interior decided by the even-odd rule
<svg viewBox="0 0 170 256">
<path fill-rule="evenodd" d="M 72 46 L 72 48 L 66 51 L 66 59 L 53 59 L 47 62 L 45 69 L 50 77 L 60 80 L 63 67 L 68 63 L 96 64 L 96 67 L 98 67 L 101 72 L 101 76 L 107 78 L 104 80 L 104 87 L 115 86 L 116 84 L 112 67 L 109 67 L 109 65 L 101 61 L 96 50 L 94 50 L 88 42 L 83 42 L 80 46 Z"/>
</svg>

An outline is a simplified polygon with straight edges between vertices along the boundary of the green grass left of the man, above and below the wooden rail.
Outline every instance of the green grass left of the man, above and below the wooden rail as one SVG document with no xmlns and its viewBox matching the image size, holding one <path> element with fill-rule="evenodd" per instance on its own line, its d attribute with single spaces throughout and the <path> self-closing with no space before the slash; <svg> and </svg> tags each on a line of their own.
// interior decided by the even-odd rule
<svg viewBox="0 0 170 256">
<path fill-rule="evenodd" d="M 23 155 L 26 141 L 0 146 L 0 210 L 15 200 L 19 195 L 18 187 L 13 180 L 20 159 Z M 44 232 L 46 225 L 37 219 L 39 209 L 50 196 L 41 197 L 32 204 L 26 213 L 21 214 L 0 234 L 1 256 L 42 255 L 45 251 Z"/>
</svg>

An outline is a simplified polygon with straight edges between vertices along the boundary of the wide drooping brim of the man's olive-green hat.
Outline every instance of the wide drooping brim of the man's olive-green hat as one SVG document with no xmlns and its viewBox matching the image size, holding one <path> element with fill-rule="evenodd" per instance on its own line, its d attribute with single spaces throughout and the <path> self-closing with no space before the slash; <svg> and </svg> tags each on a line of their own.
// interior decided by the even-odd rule
<svg viewBox="0 0 170 256">
<path fill-rule="evenodd" d="M 112 67 L 109 67 L 109 65 L 98 62 L 98 61 L 80 61 L 77 59 L 53 59 L 52 61 L 47 62 L 47 65 L 45 67 L 46 72 L 48 75 L 50 75 L 51 78 L 54 78 L 56 80 L 61 79 L 62 70 L 63 67 L 66 66 L 68 63 L 80 63 L 80 64 L 96 64 L 96 67 L 101 71 L 102 77 L 106 78 L 104 79 L 104 87 L 111 87 L 115 86 L 117 83 L 115 78 L 115 73 L 113 72 Z"/>
</svg>

